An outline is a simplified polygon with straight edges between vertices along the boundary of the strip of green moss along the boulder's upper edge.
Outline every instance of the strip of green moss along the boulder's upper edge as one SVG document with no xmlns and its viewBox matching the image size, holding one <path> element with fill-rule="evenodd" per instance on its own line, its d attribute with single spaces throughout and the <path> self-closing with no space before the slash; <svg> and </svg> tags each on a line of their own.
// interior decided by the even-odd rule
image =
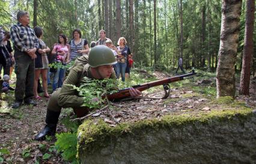
<svg viewBox="0 0 256 164">
<path fill-rule="evenodd" d="M 102 119 L 87 120 L 78 129 L 78 150 L 83 153 L 92 154 L 100 148 L 106 147 L 122 135 L 139 136 L 148 130 L 159 130 L 169 127 L 183 127 L 188 124 L 211 124 L 222 121 L 234 121 L 237 118 L 246 119 L 252 115 L 252 109 L 222 109 L 198 114 L 166 115 L 160 119 L 141 120 L 135 123 L 121 123 L 115 127 L 109 126 Z M 79 153 L 79 151 L 78 151 Z M 79 156 L 79 154 L 78 154 Z"/>
</svg>

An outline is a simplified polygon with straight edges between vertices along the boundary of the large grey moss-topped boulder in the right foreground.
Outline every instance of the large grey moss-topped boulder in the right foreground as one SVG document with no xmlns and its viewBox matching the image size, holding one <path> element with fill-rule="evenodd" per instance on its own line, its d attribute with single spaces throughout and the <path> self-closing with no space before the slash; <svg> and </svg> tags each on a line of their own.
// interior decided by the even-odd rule
<svg viewBox="0 0 256 164">
<path fill-rule="evenodd" d="M 218 110 L 121 123 L 87 120 L 78 130 L 81 163 L 255 163 L 256 112 Z"/>
</svg>

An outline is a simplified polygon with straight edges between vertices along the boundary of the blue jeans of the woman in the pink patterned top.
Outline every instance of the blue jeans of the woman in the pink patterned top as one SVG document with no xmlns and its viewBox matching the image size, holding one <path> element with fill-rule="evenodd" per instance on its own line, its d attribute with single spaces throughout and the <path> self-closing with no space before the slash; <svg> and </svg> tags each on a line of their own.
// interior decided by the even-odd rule
<svg viewBox="0 0 256 164">
<path fill-rule="evenodd" d="M 62 64 L 62 65 L 66 65 L 66 64 Z M 54 73 L 52 91 L 55 91 L 57 88 L 62 87 L 65 73 L 66 73 L 66 68 L 58 68 L 57 71 Z"/>
</svg>

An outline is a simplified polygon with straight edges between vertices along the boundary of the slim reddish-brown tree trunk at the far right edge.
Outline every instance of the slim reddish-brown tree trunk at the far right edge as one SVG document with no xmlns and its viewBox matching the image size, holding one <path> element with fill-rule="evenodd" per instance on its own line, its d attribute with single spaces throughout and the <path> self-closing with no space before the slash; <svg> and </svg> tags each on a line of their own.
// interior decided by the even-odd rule
<svg viewBox="0 0 256 164">
<path fill-rule="evenodd" d="M 246 0 L 246 22 L 245 22 L 245 45 L 243 47 L 243 65 L 240 77 L 239 93 L 249 96 L 250 88 L 250 68 L 252 53 L 254 50 L 254 10 L 255 0 Z"/>
</svg>

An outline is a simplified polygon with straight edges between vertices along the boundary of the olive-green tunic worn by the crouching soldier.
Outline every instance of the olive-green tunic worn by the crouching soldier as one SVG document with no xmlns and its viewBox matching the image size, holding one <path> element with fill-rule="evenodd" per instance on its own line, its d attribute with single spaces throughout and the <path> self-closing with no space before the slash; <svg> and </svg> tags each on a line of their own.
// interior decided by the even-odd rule
<svg viewBox="0 0 256 164">
<path fill-rule="evenodd" d="M 84 58 L 88 61 L 87 56 L 82 56 L 81 58 Z M 87 62 L 86 61 L 86 62 Z M 85 62 L 84 62 L 85 63 Z M 64 108 L 76 108 L 78 106 L 81 106 L 84 103 L 84 99 L 82 97 L 78 96 L 78 91 L 73 90 L 73 87 L 67 86 L 66 84 L 76 85 L 76 87 L 79 87 L 83 82 L 82 78 L 87 76 L 90 79 L 93 79 L 93 76 L 90 71 L 90 65 L 89 64 L 78 64 L 76 63 L 76 66 L 73 67 L 70 70 L 69 76 L 67 76 L 66 80 L 64 80 L 63 86 L 61 90 L 59 91 L 59 97 L 58 97 L 58 105 L 62 106 Z M 112 70 L 110 79 L 116 79 L 115 71 Z"/>
</svg>

